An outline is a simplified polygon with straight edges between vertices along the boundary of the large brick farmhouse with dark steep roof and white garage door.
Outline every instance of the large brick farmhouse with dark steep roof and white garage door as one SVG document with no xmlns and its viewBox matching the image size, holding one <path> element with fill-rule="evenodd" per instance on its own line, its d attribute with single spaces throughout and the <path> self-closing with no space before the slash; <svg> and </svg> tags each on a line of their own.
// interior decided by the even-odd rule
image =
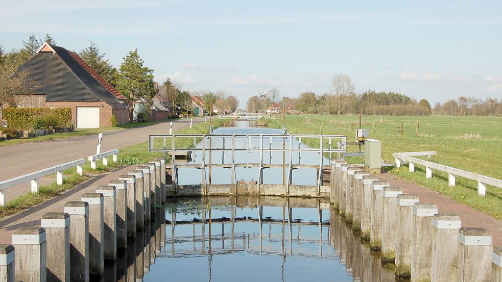
<svg viewBox="0 0 502 282">
<path fill-rule="evenodd" d="M 30 93 L 18 95 L 18 108 L 70 108 L 77 128 L 111 126 L 128 121 L 126 98 L 75 52 L 44 43 L 19 71 L 37 82 Z"/>
</svg>

